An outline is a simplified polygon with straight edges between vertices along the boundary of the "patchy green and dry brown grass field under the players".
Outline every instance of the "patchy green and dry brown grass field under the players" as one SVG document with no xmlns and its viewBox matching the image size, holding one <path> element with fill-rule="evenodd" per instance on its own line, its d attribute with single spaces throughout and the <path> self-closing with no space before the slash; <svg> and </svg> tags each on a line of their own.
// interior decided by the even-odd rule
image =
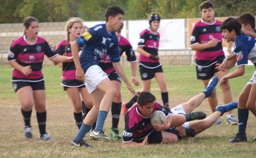
<svg viewBox="0 0 256 158">
<path fill-rule="evenodd" d="M 125 66 L 130 78 L 130 68 Z M 163 66 L 164 75 L 169 91 L 171 107 L 188 101 L 203 89 L 200 80 L 196 80 L 194 66 Z M 232 69 L 231 71 L 233 71 Z M 231 79 L 233 100 L 238 96 L 251 78 L 254 66 L 246 66 L 246 73 L 239 78 Z M 35 110 L 32 111 L 31 125 L 33 138 L 27 140 L 23 134 L 23 117 L 21 106 L 10 81 L 12 68 L 0 67 L 0 158 L 255 158 L 256 143 L 252 138 L 256 136 L 256 119 L 249 113 L 246 143 L 231 144 L 228 140 L 233 137 L 238 126 L 226 125 L 226 116 L 222 117 L 222 124 L 212 126 L 194 138 L 188 138 L 175 144 L 147 145 L 145 147 L 122 147 L 122 141 L 97 142 L 85 140 L 94 148 L 71 147 L 70 141 L 76 135 L 78 128 L 74 123 L 73 108 L 67 94 L 62 90 L 61 69 L 57 66 L 45 66 L 43 69 L 46 85 L 47 123 L 46 131 L 53 140 L 44 142 L 39 140 L 39 130 Z M 138 78 L 140 78 L 138 76 Z M 135 87 L 140 90 L 141 86 Z M 161 95 L 155 80 L 152 82 L 151 92 L 162 103 Z M 221 91 L 217 85 L 218 101 L 222 104 Z M 128 101 L 131 94 L 122 85 L 122 101 Z M 203 110 L 210 114 L 210 107 L 204 101 L 196 110 Z M 237 118 L 237 110 L 233 111 Z M 104 129 L 109 135 L 111 117 L 107 117 Z M 122 133 L 124 118 L 121 116 L 119 129 Z"/>
</svg>

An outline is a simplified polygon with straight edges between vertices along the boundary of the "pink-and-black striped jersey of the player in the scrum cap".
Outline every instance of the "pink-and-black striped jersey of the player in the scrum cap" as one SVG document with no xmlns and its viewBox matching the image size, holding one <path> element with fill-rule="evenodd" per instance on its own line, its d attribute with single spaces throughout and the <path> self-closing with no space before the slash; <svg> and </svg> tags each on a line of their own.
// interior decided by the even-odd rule
<svg viewBox="0 0 256 158">
<path fill-rule="evenodd" d="M 140 39 L 138 41 L 138 47 L 143 47 L 143 49 L 152 54 L 158 55 L 158 47 L 159 47 L 159 33 L 155 34 L 150 31 L 150 28 L 143 30 L 140 34 Z M 155 60 L 150 59 L 144 55 L 139 56 L 139 65 L 154 69 L 160 66 L 159 62 L 155 62 Z"/>
</svg>

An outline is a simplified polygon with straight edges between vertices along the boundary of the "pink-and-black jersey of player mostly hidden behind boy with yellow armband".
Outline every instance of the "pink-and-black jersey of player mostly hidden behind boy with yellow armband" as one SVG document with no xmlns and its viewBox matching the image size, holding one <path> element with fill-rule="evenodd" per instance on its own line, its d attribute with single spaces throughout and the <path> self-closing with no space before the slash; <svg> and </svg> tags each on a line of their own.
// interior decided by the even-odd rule
<svg viewBox="0 0 256 158">
<path fill-rule="evenodd" d="M 120 57 L 125 52 L 127 56 L 127 61 L 129 62 L 136 62 L 136 56 L 134 53 L 134 49 L 132 48 L 130 42 L 123 36 L 120 36 L 118 41 L 118 50 Z M 99 62 L 99 66 L 106 74 L 111 74 L 116 72 L 115 68 L 113 67 L 113 64 L 109 58 L 108 53 L 101 59 Z"/>
</svg>

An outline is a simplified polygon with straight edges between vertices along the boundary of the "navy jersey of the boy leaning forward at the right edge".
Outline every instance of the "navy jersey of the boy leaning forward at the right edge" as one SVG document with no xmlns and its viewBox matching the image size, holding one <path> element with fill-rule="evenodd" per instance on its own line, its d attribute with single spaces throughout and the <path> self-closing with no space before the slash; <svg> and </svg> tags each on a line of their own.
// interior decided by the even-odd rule
<svg viewBox="0 0 256 158">
<path fill-rule="evenodd" d="M 238 66 L 247 65 L 248 60 L 251 60 L 256 67 L 256 39 L 254 37 L 238 35 L 235 38 L 234 48 L 233 54 L 236 54 Z"/>
</svg>

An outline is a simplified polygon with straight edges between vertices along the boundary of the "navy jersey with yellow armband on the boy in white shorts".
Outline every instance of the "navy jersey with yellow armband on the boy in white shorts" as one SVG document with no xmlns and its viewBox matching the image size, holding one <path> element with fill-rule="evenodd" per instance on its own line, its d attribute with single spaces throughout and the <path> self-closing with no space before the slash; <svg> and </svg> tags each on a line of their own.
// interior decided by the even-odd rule
<svg viewBox="0 0 256 158">
<path fill-rule="evenodd" d="M 111 62 L 120 61 L 118 39 L 115 32 L 108 34 L 106 24 L 91 27 L 76 42 L 83 47 L 79 60 L 84 72 L 92 65 L 99 65 L 106 53 L 109 54 Z"/>
</svg>

